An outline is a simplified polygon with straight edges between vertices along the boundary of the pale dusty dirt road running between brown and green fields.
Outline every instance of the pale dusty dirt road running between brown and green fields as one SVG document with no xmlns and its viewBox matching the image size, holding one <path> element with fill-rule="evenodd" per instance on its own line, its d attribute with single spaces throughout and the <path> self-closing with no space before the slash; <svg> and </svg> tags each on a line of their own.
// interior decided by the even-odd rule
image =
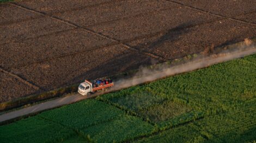
<svg viewBox="0 0 256 143">
<path fill-rule="evenodd" d="M 236 59 L 239 57 L 243 57 L 243 56 L 247 56 L 247 55 L 251 55 L 251 54 L 255 54 L 255 53 L 256 53 L 256 47 L 251 46 L 251 48 L 233 51 L 232 53 L 225 53 L 225 54 L 222 53 L 222 54 L 218 54 L 218 55 L 214 55 L 214 56 L 210 56 L 210 57 L 205 57 L 204 59 L 198 59 L 195 61 L 187 62 L 187 63 L 181 64 L 180 66 L 164 68 L 162 72 L 155 72 L 155 73 L 152 72 L 152 75 L 147 75 L 145 77 L 136 77 L 136 78 L 132 77 L 131 79 L 127 79 L 125 82 L 117 81 L 117 85 L 120 85 L 120 86 L 115 86 L 112 89 L 120 90 L 122 88 L 135 86 L 135 85 L 138 85 L 138 84 L 141 84 L 144 82 L 154 81 L 154 80 L 161 79 L 163 77 L 170 76 L 170 75 L 189 72 L 189 71 L 196 70 L 199 68 L 208 67 L 212 64 L 229 61 L 232 59 Z M 126 83 L 129 83 L 129 84 L 126 84 Z M 74 95 L 70 95 L 70 96 L 65 96 L 63 98 L 46 101 L 44 103 L 39 103 L 38 105 L 34 105 L 31 107 L 19 109 L 17 111 L 2 114 L 2 115 L 0 115 L 0 122 L 15 119 L 15 118 L 18 118 L 19 116 L 25 116 L 25 115 L 29 115 L 29 114 L 33 114 L 33 113 L 38 113 L 41 111 L 45 111 L 46 109 L 60 107 L 60 106 L 74 103 L 77 101 L 81 101 L 84 99 L 92 98 L 92 97 L 95 97 L 95 96 L 98 96 L 101 94 L 103 94 L 103 93 L 98 92 L 89 97 L 82 96 L 80 94 L 74 94 Z"/>
</svg>

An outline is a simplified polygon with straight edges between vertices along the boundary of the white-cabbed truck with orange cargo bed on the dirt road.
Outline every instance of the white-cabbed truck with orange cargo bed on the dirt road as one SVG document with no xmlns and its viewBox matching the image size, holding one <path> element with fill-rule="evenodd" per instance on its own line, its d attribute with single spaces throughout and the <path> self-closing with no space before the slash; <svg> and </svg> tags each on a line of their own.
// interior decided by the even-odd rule
<svg viewBox="0 0 256 143">
<path fill-rule="evenodd" d="M 106 82 L 105 84 L 103 84 L 102 82 L 102 84 L 97 85 L 96 83 L 93 84 L 92 82 L 85 80 L 78 86 L 78 93 L 89 96 L 98 90 L 103 90 L 112 86 L 114 86 L 114 83 L 112 81 Z"/>
</svg>

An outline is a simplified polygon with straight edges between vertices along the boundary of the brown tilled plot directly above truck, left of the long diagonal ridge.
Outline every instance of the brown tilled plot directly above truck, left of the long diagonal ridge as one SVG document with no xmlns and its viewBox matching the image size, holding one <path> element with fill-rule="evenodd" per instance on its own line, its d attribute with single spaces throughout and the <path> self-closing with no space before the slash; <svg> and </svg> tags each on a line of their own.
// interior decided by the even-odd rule
<svg viewBox="0 0 256 143">
<path fill-rule="evenodd" d="M 151 63 L 149 57 L 138 56 L 120 45 L 78 53 L 12 70 L 17 75 L 50 90 Z M 38 78 L 38 75 L 44 78 Z"/>
</svg>

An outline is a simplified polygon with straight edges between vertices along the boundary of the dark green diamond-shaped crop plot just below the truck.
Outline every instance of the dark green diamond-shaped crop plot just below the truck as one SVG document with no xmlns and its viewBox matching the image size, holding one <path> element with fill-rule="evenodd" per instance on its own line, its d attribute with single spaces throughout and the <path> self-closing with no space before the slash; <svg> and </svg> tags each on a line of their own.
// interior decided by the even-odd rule
<svg viewBox="0 0 256 143">
<path fill-rule="evenodd" d="M 124 111 L 118 108 L 89 99 L 43 112 L 39 116 L 71 128 L 81 129 L 113 120 L 123 114 Z"/>
</svg>

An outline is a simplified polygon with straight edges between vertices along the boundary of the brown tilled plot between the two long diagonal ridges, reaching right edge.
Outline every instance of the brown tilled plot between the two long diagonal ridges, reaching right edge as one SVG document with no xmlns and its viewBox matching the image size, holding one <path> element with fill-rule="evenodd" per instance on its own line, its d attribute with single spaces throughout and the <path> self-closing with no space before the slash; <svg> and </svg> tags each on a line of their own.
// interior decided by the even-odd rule
<svg viewBox="0 0 256 143">
<path fill-rule="evenodd" d="M 245 37 L 253 37 L 255 33 L 256 27 L 223 20 L 190 28 L 176 27 L 153 37 L 141 38 L 127 44 L 172 60 L 198 53 L 206 47 L 211 47 L 212 44 L 220 47 L 243 41 Z"/>
</svg>

